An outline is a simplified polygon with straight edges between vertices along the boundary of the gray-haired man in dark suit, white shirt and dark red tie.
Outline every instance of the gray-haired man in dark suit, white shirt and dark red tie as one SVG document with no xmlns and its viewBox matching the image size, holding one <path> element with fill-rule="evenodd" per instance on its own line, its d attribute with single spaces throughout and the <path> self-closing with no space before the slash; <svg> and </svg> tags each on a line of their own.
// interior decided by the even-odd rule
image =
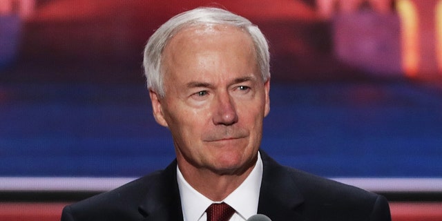
<svg viewBox="0 0 442 221">
<path fill-rule="evenodd" d="M 177 15 L 149 39 L 144 68 L 176 160 L 66 206 L 61 220 L 217 220 L 220 210 L 224 220 L 390 220 L 382 196 L 280 166 L 259 150 L 269 50 L 247 19 L 218 8 Z"/>
</svg>

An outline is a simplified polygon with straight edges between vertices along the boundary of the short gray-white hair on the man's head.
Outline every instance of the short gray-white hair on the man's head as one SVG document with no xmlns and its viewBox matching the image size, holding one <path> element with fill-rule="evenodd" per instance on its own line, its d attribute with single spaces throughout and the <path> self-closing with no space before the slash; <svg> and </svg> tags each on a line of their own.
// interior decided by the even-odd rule
<svg viewBox="0 0 442 221">
<path fill-rule="evenodd" d="M 269 45 L 256 25 L 244 17 L 220 8 L 195 8 L 175 15 L 149 38 L 144 48 L 143 60 L 144 75 L 146 75 L 149 89 L 158 93 L 160 97 L 164 97 L 165 91 L 161 73 L 162 52 L 173 35 L 184 28 L 198 24 L 223 24 L 245 30 L 253 41 L 262 79 L 267 81 L 270 78 Z"/>
</svg>

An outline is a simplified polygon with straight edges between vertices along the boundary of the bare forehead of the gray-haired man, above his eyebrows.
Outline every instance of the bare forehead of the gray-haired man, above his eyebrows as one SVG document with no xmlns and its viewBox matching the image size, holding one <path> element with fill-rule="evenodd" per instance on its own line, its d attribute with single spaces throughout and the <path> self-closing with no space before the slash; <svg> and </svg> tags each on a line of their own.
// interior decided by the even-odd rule
<svg viewBox="0 0 442 221">
<path fill-rule="evenodd" d="M 218 68 L 223 65 L 258 68 L 249 33 L 223 24 L 193 25 L 180 30 L 164 48 L 162 61 L 165 75 L 206 68 L 209 64 Z"/>
</svg>

